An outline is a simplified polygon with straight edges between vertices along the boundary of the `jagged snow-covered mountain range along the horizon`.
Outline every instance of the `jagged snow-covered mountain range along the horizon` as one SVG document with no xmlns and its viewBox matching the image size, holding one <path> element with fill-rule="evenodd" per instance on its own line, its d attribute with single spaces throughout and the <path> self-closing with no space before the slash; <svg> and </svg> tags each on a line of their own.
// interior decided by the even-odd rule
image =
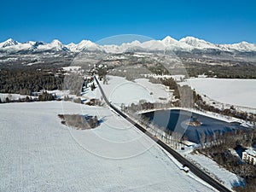
<svg viewBox="0 0 256 192">
<path fill-rule="evenodd" d="M 62 44 L 59 40 L 53 40 L 51 43 L 28 41 L 19 43 L 11 38 L 0 43 L 0 51 L 7 53 L 15 53 L 20 51 L 44 52 L 44 51 L 104 51 L 109 53 L 122 53 L 127 51 L 191 51 L 193 49 L 207 50 L 216 49 L 222 51 L 239 51 L 239 52 L 256 52 L 256 44 L 241 42 L 239 44 L 212 44 L 205 40 L 186 37 L 176 40 L 167 36 L 162 40 L 150 40 L 146 42 L 133 41 L 121 45 L 100 45 L 90 40 L 82 40 L 79 44 Z"/>
</svg>

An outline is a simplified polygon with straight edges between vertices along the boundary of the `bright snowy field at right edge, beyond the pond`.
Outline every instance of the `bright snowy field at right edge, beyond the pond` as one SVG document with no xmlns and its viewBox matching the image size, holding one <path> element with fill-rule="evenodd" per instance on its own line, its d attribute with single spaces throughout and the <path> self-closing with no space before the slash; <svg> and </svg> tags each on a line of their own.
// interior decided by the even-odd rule
<svg viewBox="0 0 256 192">
<path fill-rule="evenodd" d="M 218 102 L 256 108 L 256 79 L 187 79 L 180 84 L 190 84 L 201 95 Z"/>
</svg>

